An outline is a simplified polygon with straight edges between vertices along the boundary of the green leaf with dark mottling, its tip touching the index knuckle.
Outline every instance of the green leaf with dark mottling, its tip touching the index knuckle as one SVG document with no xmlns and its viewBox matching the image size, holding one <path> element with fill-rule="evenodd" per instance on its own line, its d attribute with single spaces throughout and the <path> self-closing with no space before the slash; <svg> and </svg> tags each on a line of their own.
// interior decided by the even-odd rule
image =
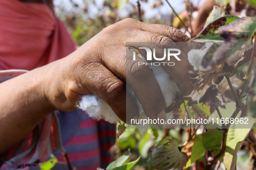
<svg viewBox="0 0 256 170">
<path fill-rule="evenodd" d="M 209 25 L 207 25 L 206 28 L 201 32 L 200 35 L 198 35 L 197 38 L 194 39 L 194 41 L 199 42 L 220 42 L 224 41 L 225 39 L 220 36 L 220 34 L 215 33 L 215 31 L 220 28 L 223 25 L 227 25 L 233 21 L 236 21 L 239 19 L 237 16 L 227 15 L 220 17 L 219 19 L 215 20 L 214 22 L 211 22 Z"/>
</svg>

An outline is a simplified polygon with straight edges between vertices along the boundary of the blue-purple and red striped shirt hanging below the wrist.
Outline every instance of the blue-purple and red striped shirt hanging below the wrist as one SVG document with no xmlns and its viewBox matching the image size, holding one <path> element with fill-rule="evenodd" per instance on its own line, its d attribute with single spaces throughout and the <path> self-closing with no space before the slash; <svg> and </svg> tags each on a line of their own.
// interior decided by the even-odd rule
<svg viewBox="0 0 256 170">
<path fill-rule="evenodd" d="M 75 110 L 58 114 L 63 148 L 67 151 L 71 165 L 77 170 L 106 168 L 112 161 L 108 152 L 116 140 L 116 127 L 104 120 L 92 120 L 84 111 Z M 58 161 L 64 159 L 60 151 L 53 154 Z M 52 170 L 68 170 L 67 165 L 56 164 Z"/>
</svg>

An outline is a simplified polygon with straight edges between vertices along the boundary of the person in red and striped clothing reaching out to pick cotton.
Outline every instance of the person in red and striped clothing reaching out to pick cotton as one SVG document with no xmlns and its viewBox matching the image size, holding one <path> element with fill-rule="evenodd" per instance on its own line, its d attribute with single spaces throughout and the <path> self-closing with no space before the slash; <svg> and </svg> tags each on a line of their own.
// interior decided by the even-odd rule
<svg viewBox="0 0 256 170">
<path fill-rule="evenodd" d="M 126 79 L 126 42 L 192 41 L 176 28 L 124 19 L 76 49 L 54 15 L 52 0 L 1 0 L 0 23 L 0 170 L 39 169 L 35 166 L 49 160 L 53 150 L 63 148 L 77 170 L 106 167 L 115 128 L 89 119 L 75 103 L 82 95 L 96 94 L 123 122 L 126 115 L 136 118 L 139 110 L 126 93 L 123 82 L 127 81 L 150 119 L 166 117 L 165 99 L 148 66 L 133 67 L 128 62 Z M 165 71 L 181 95 L 188 96 L 193 90 L 191 64 L 184 53 L 179 58 L 182 62 Z M 6 80 L 12 76 L 16 77 Z M 54 154 L 61 159 L 60 153 Z"/>
</svg>

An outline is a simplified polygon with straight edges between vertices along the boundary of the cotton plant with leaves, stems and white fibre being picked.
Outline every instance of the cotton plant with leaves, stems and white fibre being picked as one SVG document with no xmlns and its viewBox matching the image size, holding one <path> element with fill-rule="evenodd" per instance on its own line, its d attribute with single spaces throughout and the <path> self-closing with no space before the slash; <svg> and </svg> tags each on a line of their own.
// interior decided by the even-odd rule
<svg viewBox="0 0 256 170">
<path fill-rule="evenodd" d="M 213 118 L 213 120 L 218 119 L 224 123 L 215 123 L 214 126 L 207 128 L 207 131 L 202 130 L 201 134 L 197 133 L 199 126 L 197 129 L 194 127 L 193 133 L 193 128 L 190 127 L 188 129 L 188 139 L 183 144 L 179 144 L 178 139 L 172 137 L 170 139 L 163 138 L 160 142 L 155 143 L 149 150 L 149 158 L 146 162 L 149 166 L 161 170 L 170 168 L 186 169 L 191 167 L 195 161 L 200 162 L 201 160 L 207 160 L 209 170 L 214 168 L 218 169 L 220 164 L 224 164 L 227 170 L 237 169 L 237 152 L 249 134 L 255 119 L 250 116 L 246 117 L 249 120 L 246 129 L 243 129 L 245 128 L 245 124 L 241 121 L 233 124 L 231 122 L 232 119 L 240 119 L 240 110 L 245 106 L 243 98 L 246 97 L 246 87 L 249 84 L 249 73 L 253 65 L 253 58 L 255 58 L 256 47 L 253 45 L 253 47 L 251 46 L 250 48 L 244 44 L 246 44 L 245 42 L 249 41 L 253 35 L 255 39 L 255 32 L 256 19 L 252 17 L 239 18 L 238 16 L 227 15 L 222 7 L 214 6 L 214 9 L 205 22 L 203 31 L 193 39 L 193 41 L 203 42 L 204 47 L 188 51 L 188 61 L 194 66 L 194 71 L 198 74 L 198 76 L 194 78 L 197 79 L 194 84 L 194 90 L 188 97 L 191 97 L 193 101 L 197 101 L 198 104 L 200 99 L 205 97 L 205 100 L 211 103 L 215 109 L 210 115 L 207 114 L 210 112 L 209 107 L 207 107 L 208 110 L 206 113 L 204 108 L 192 105 L 191 108 L 194 110 L 193 114 L 196 113 L 197 116 L 201 117 L 205 116 L 208 120 Z M 241 49 L 243 49 L 242 53 L 240 53 Z M 240 52 L 238 50 L 240 50 Z M 240 66 L 247 63 L 249 60 L 249 69 L 247 72 L 244 71 L 245 76 L 240 78 L 243 81 L 243 88 L 240 89 L 240 91 L 237 90 L 236 93 L 233 90 L 230 77 L 237 72 Z M 152 69 L 153 74 L 159 82 L 166 106 L 172 105 L 175 94 L 179 92 L 177 85 L 169 78 L 169 75 L 161 66 L 149 65 L 149 68 Z M 220 83 L 224 76 L 227 79 L 233 98 L 236 101 L 232 107 L 233 110 L 230 109 L 231 112 L 225 109 L 225 101 L 217 90 L 218 83 Z M 130 94 L 133 95 L 131 88 L 128 88 L 128 90 Z M 90 98 L 93 98 L 93 100 L 91 101 Z M 139 107 L 139 118 L 146 118 L 137 99 L 136 103 Z M 204 102 L 204 104 L 208 103 Z M 229 104 L 228 107 L 231 105 L 232 104 Z M 118 121 L 113 110 L 111 110 L 110 107 L 107 108 L 106 102 L 92 94 L 84 96 L 79 102 L 78 107 L 86 110 L 94 119 L 98 120 L 103 118 L 112 123 Z M 108 111 L 106 112 L 105 110 Z M 188 116 L 187 108 L 181 108 L 180 113 L 185 115 L 185 112 L 187 112 Z M 172 112 L 167 113 L 167 116 L 169 116 L 167 119 L 172 119 Z M 225 122 L 224 116 L 226 120 L 231 121 Z M 148 134 L 144 136 L 143 139 L 147 136 Z M 252 139 L 252 135 L 250 135 L 250 139 Z M 211 153 L 211 156 L 206 153 Z"/>
</svg>

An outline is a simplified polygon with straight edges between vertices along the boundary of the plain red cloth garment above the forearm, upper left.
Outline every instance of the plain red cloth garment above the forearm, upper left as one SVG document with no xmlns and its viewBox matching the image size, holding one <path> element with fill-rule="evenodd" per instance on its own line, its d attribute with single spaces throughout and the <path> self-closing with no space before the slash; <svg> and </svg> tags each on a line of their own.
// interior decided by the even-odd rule
<svg viewBox="0 0 256 170">
<path fill-rule="evenodd" d="M 65 25 L 45 4 L 0 0 L 0 70 L 32 70 L 75 49 Z"/>
</svg>

